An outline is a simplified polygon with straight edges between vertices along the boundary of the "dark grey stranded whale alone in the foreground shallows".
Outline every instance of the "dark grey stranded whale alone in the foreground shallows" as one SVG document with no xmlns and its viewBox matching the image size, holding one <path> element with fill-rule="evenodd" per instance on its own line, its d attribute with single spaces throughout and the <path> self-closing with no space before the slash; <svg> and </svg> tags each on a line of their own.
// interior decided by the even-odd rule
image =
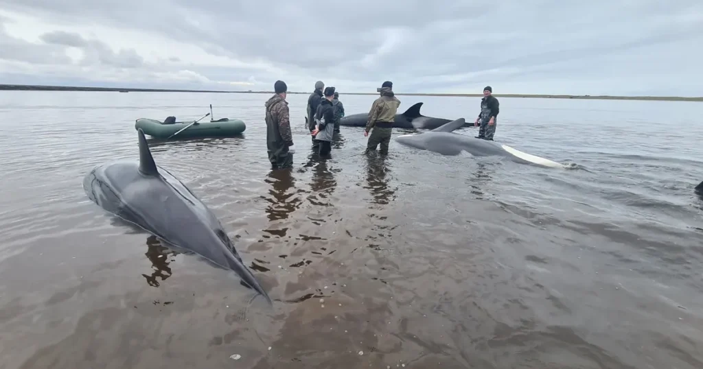
<svg viewBox="0 0 703 369">
<path fill-rule="evenodd" d="M 245 266 L 220 221 L 181 181 L 155 164 L 144 132 L 138 129 L 139 160 L 100 164 L 83 179 L 93 202 L 136 224 L 167 245 L 194 252 L 237 273 L 243 285 L 266 291 Z"/>
</svg>

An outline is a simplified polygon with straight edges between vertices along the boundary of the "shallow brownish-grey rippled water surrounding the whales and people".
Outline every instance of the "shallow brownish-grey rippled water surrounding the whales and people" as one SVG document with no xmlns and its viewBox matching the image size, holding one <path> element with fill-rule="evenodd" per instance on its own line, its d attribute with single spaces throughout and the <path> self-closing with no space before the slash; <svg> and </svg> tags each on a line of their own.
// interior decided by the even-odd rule
<svg viewBox="0 0 703 369">
<path fill-rule="evenodd" d="M 496 140 L 562 170 L 394 142 L 366 157 L 349 127 L 321 162 L 291 95 L 295 169 L 272 172 L 267 98 L 0 91 L 0 368 L 703 367 L 702 104 L 501 98 Z M 352 114 L 373 96 L 342 101 Z M 134 119 L 210 103 L 242 138 L 153 155 L 219 216 L 270 311 L 81 187 L 136 160 Z"/>
</svg>

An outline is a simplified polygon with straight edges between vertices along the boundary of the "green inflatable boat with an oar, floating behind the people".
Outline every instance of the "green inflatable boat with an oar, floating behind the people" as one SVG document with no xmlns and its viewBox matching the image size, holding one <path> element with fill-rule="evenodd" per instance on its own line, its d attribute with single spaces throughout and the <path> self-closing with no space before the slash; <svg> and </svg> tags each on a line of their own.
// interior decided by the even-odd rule
<svg viewBox="0 0 703 369">
<path fill-rule="evenodd" d="M 166 122 L 160 122 L 156 119 L 140 118 L 136 119 L 134 129 L 141 128 L 144 134 L 155 138 L 169 138 L 193 122 L 195 120 L 176 122 L 175 119 L 167 119 Z M 192 124 L 191 127 L 183 129 L 174 138 L 237 136 L 245 129 L 247 129 L 247 125 L 240 119 L 221 118 Z"/>
</svg>

